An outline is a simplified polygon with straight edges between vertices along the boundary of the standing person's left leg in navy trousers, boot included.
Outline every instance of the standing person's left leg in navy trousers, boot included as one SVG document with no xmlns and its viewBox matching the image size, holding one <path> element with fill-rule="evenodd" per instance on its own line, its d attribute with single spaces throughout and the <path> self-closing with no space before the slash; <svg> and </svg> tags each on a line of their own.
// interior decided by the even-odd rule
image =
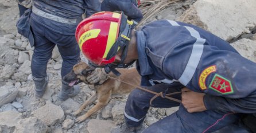
<svg viewBox="0 0 256 133">
<path fill-rule="evenodd" d="M 34 53 L 31 61 L 32 79 L 35 84 L 35 95 L 44 95 L 49 77 L 46 76 L 46 65 L 52 57 L 52 50 L 55 46 L 51 41 L 44 37 L 45 28 L 37 22 L 30 21 L 34 33 Z"/>
</svg>

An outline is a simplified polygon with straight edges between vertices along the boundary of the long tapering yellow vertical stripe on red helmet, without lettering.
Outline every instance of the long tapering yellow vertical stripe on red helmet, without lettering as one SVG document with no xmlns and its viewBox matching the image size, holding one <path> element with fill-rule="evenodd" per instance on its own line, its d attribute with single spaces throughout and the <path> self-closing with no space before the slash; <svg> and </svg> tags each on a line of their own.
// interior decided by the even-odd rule
<svg viewBox="0 0 256 133">
<path fill-rule="evenodd" d="M 108 37 L 107 37 L 107 46 L 106 46 L 106 50 L 105 50 L 103 58 L 107 57 L 109 50 L 114 45 L 115 38 L 117 38 L 117 30 L 118 30 L 118 23 L 110 22 L 110 30 L 108 32 Z"/>
</svg>

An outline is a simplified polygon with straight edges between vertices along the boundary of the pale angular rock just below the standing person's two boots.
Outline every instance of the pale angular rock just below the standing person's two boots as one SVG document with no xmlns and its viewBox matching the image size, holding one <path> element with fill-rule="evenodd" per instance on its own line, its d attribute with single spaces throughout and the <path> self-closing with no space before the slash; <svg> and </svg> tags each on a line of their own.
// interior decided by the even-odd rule
<svg viewBox="0 0 256 133">
<path fill-rule="evenodd" d="M 46 101 L 44 106 L 36 109 L 32 114 L 46 123 L 47 126 L 53 126 L 56 122 L 64 120 L 64 112 L 61 107 L 52 104 L 51 101 Z"/>
</svg>

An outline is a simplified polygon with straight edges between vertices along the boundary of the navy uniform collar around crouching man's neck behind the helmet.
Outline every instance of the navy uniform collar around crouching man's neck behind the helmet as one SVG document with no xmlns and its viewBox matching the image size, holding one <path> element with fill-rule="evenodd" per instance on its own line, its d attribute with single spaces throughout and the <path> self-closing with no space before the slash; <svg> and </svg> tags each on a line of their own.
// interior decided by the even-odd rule
<svg viewBox="0 0 256 133">
<path fill-rule="evenodd" d="M 138 49 L 138 62 L 139 62 L 139 72 L 141 76 L 152 75 L 153 69 L 149 65 L 148 57 L 145 52 L 146 40 L 145 35 L 142 31 L 136 31 L 137 36 L 137 49 Z"/>
</svg>

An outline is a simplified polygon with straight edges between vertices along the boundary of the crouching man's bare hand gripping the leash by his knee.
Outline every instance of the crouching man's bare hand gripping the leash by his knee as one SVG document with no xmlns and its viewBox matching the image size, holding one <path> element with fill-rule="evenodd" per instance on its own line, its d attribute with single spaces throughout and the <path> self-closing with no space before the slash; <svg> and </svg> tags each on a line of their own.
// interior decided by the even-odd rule
<svg viewBox="0 0 256 133">
<path fill-rule="evenodd" d="M 181 103 L 189 113 L 202 112 L 206 110 L 203 100 L 205 95 L 204 93 L 193 92 L 188 88 L 183 88 L 181 92 Z"/>
</svg>

